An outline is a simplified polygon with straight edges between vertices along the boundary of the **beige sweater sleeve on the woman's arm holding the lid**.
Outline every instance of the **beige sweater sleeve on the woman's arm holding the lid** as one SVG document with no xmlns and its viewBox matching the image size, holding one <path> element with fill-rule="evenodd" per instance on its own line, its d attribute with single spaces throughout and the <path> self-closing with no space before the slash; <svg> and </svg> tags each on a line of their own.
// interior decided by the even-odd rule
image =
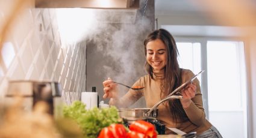
<svg viewBox="0 0 256 138">
<path fill-rule="evenodd" d="M 192 77 L 194 74 L 192 71 L 188 71 L 186 73 L 187 79 Z M 202 124 L 205 123 L 205 112 L 204 112 L 204 107 L 202 103 L 202 93 L 201 93 L 201 87 L 199 85 L 199 80 L 195 79 L 193 83 L 196 85 L 196 95 L 194 98 L 192 98 L 192 103 L 190 104 L 189 107 L 185 108 L 184 111 L 186 112 L 187 116 L 189 117 L 189 120 L 197 125 L 201 126 Z"/>
</svg>

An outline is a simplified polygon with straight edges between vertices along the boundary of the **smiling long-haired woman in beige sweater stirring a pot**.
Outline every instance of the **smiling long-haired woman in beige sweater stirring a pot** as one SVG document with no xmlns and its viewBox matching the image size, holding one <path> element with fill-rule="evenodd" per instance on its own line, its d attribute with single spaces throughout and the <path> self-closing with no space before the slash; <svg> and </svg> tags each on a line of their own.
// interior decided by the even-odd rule
<svg viewBox="0 0 256 138">
<path fill-rule="evenodd" d="M 146 106 L 152 107 L 166 97 L 194 74 L 190 70 L 180 68 L 177 61 L 178 50 L 172 35 L 158 29 L 148 35 L 144 41 L 148 75 L 140 77 L 133 87 L 145 87 L 140 91 L 129 90 L 119 98 L 116 83 L 105 80 L 104 98 L 111 98 L 110 104 L 118 107 L 128 107 L 144 96 Z M 158 106 L 158 119 L 166 127 L 178 128 L 190 133 L 196 131 L 198 137 L 222 137 L 219 131 L 205 118 L 202 105 L 202 94 L 198 79 L 186 86 L 180 92 L 182 99 L 169 100 Z M 122 102 L 121 102 L 122 101 Z M 167 130 L 166 133 L 172 133 Z"/>
</svg>

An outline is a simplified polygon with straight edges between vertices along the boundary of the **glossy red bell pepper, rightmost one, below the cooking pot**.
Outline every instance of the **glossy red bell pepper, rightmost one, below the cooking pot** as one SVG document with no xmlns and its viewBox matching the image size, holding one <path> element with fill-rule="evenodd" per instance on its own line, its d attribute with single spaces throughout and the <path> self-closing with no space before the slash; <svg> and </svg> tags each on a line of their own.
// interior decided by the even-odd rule
<svg viewBox="0 0 256 138">
<path fill-rule="evenodd" d="M 143 120 L 132 122 L 132 124 L 130 125 L 130 130 L 145 134 L 146 137 L 157 136 L 154 125 Z"/>
</svg>

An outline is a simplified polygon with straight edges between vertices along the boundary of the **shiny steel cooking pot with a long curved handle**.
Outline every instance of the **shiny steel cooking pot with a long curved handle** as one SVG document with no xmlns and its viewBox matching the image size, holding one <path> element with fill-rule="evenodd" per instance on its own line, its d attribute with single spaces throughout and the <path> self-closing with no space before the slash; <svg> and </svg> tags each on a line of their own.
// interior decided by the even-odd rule
<svg viewBox="0 0 256 138">
<path fill-rule="evenodd" d="M 164 98 L 161 101 L 158 101 L 151 108 L 135 108 L 135 109 L 119 109 L 119 116 L 126 121 L 136 121 L 136 120 L 145 120 L 145 119 L 157 119 L 159 104 L 163 103 L 163 101 L 169 99 L 180 99 L 182 96 L 172 95 Z"/>
</svg>

